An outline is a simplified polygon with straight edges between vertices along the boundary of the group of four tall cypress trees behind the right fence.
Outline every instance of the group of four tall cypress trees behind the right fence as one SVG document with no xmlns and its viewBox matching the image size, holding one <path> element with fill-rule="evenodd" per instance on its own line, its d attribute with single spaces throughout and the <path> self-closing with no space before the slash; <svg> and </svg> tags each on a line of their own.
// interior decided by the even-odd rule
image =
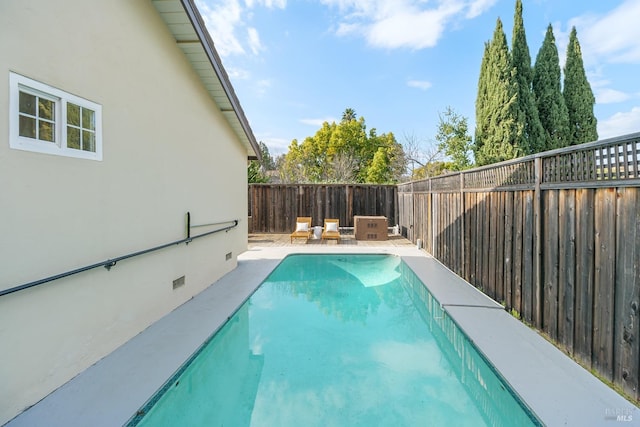
<svg viewBox="0 0 640 427">
<path fill-rule="evenodd" d="M 561 77 L 551 25 L 531 66 L 522 0 L 516 0 L 511 51 L 500 19 L 493 38 L 485 43 L 476 97 L 476 164 L 597 140 L 595 98 L 575 27 L 567 48 L 564 84 Z"/>
</svg>

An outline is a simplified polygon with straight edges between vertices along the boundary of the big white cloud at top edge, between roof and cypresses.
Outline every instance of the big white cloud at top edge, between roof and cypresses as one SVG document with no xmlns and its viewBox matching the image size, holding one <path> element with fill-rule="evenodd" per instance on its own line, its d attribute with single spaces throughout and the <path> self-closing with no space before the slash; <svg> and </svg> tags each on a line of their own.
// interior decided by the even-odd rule
<svg viewBox="0 0 640 427">
<path fill-rule="evenodd" d="M 456 18 L 474 18 L 497 0 L 320 0 L 343 15 L 336 34 L 357 35 L 378 48 L 433 47 Z"/>
</svg>

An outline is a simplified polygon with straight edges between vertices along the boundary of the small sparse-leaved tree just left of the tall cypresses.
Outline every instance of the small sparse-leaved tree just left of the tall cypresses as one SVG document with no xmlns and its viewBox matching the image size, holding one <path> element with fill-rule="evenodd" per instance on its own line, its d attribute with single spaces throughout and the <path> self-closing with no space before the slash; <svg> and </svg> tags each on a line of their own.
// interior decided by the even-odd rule
<svg viewBox="0 0 640 427">
<path fill-rule="evenodd" d="M 461 171 L 471 167 L 471 136 L 468 134 L 467 118 L 458 115 L 451 107 L 439 115 L 438 149 L 450 159 L 448 169 Z"/>
</svg>

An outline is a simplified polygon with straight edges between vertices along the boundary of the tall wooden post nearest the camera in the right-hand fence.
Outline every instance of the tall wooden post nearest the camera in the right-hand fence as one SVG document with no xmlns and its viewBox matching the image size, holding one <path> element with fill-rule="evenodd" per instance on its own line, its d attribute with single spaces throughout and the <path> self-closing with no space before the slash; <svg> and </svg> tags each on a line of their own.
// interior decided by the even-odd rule
<svg viewBox="0 0 640 427">
<path fill-rule="evenodd" d="M 533 248 L 533 323 L 538 329 L 542 329 L 542 194 L 540 183 L 542 181 L 542 158 L 534 160 L 534 194 L 533 194 L 533 222 L 534 222 L 534 248 Z"/>
</svg>

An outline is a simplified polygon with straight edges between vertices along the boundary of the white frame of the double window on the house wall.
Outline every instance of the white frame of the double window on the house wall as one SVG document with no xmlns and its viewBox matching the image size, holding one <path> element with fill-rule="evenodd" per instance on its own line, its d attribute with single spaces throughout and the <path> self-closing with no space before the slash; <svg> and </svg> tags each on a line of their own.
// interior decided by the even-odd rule
<svg viewBox="0 0 640 427">
<path fill-rule="evenodd" d="M 20 136 L 20 91 L 55 102 L 55 142 Z M 96 151 L 67 147 L 67 103 L 95 112 Z M 102 161 L 102 106 L 20 74 L 9 72 L 9 147 L 16 150 Z"/>
</svg>

